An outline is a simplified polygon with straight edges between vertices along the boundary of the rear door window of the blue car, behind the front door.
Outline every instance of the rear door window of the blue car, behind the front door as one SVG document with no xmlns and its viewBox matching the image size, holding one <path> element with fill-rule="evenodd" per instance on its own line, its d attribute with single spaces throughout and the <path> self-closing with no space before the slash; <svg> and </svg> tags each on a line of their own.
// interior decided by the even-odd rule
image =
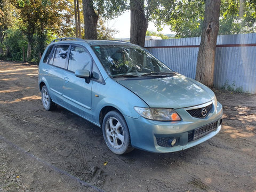
<svg viewBox="0 0 256 192">
<path fill-rule="evenodd" d="M 69 45 L 58 45 L 55 49 L 53 65 L 65 68 Z"/>
</svg>

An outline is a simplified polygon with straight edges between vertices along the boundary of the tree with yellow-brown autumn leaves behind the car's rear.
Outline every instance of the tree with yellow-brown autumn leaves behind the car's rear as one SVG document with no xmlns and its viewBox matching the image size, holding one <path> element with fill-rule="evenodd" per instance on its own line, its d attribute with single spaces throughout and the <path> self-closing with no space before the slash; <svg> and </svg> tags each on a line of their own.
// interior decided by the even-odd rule
<svg viewBox="0 0 256 192">
<path fill-rule="evenodd" d="M 45 48 L 47 29 L 61 30 L 63 23 L 70 23 L 71 11 L 68 0 L 11 0 L 19 10 L 20 18 L 25 26 L 24 33 L 28 39 L 27 60 L 31 57 L 31 45 L 37 34 L 38 57 Z"/>
</svg>

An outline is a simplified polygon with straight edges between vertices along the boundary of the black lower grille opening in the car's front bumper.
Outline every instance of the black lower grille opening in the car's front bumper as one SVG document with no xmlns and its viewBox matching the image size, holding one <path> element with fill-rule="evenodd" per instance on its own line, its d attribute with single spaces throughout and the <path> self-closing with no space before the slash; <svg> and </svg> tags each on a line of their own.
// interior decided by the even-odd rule
<svg viewBox="0 0 256 192">
<path fill-rule="evenodd" d="M 217 129 L 217 125 L 218 121 L 202 127 L 198 127 L 195 130 L 188 132 L 188 142 L 199 139 L 204 135 L 209 134 L 212 131 L 215 131 Z"/>
</svg>

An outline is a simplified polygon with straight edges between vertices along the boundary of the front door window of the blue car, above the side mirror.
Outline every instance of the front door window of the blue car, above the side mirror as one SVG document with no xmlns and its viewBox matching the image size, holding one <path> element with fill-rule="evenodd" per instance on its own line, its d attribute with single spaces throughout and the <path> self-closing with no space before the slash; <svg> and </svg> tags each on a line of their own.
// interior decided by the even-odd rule
<svg viewBox="0 0 256 192">
<path fill-rule="evenodd" d="M 92 59 L 90 54 L 79 46 L 71 46 L 68 70 L 75 72 L 77 69 L 87 69 L 91 71 Z"/>
</svg>

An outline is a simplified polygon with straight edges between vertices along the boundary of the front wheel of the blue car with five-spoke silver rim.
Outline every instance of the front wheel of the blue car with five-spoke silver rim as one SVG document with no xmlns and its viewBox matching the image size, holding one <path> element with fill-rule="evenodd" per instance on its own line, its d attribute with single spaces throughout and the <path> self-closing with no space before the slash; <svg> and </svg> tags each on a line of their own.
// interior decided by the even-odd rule
<svg viewBox="0 0 256 192">
<path fill-rule="evenodd" d="M 118 111 L 109 111 L 105 115 L 102 132 L 108 148 L 113 153 L 123 155 L 133 150 L 128 126 Z"/>
</svg>

